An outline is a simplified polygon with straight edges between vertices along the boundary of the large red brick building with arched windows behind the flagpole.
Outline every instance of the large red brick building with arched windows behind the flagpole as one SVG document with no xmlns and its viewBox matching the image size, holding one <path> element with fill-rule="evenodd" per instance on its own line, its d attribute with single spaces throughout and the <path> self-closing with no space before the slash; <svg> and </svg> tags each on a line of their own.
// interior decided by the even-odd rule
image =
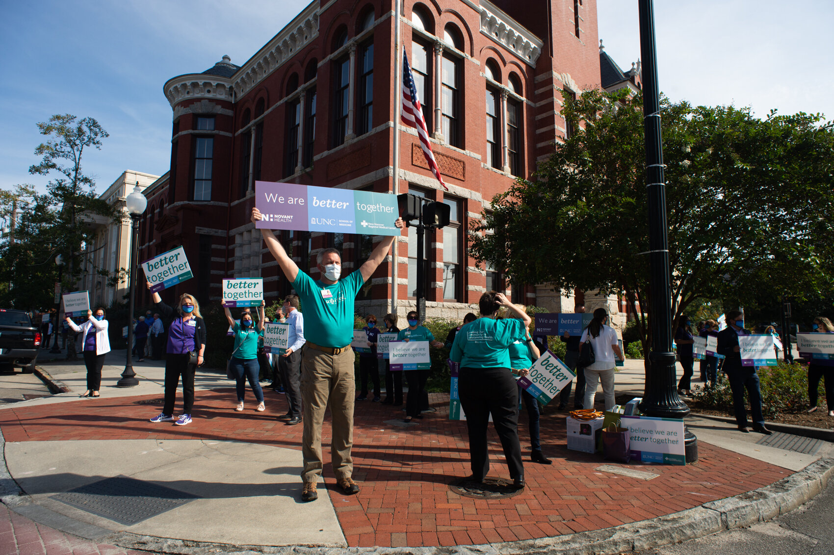
<svg viewBox="0 0 834 555">
<path fill-rule="evenodd" d="M 515 176 L 530 177 L 570 133 L 560 117 L 562 91 L 600 87 L 596 2 L 404 0 L 402 16 L 402 45 L 450 190 L 432 176 L 414 129 L 404 127 L 398 192 L 450 204 L 453 220 L 426 234 L 427 313 L 460 317 L 489 289 L 535 303 L 535 287 L 510 287 L 476 267 L 467 230 L 495 194 Z M 260 275 L 268 298 L 289 293 L 249 221 L 255 181 L 393 191 L 395 89 L 391 0 L 316 0 L 243 65 L 224 56 L 203 73 L 165 83 L 171 167 L 146 191 L 140 259 L 183 245 L 195 276 L 163 297 L 188 291 L 219 300 L 224 277 Z M 394 260 L 400 317 L 414 305 L 409 231 L 397 257 L 369 280 L 358 310 L 391 310 Z M 345 270 L 353 270 L 374 240 L 301 232 L 283 239 L 314 277 L 320 249 L 339 248 Z"/>
</svg>

